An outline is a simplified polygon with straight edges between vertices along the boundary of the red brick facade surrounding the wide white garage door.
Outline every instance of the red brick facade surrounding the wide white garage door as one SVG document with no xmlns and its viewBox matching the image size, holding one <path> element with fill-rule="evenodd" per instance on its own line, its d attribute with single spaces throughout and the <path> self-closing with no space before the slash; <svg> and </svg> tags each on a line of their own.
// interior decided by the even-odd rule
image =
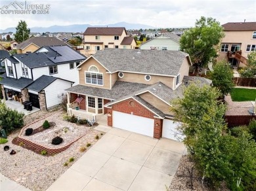
<svg viewBox="0 0 256 191">
<path fill-rule="evenodd" d="M 140 105 L 137 101 L 134 99 L 127 99 L 125 101 L 121 101 L 119 103 L 116 103 L 112 106 L 112 109 L 107 108 L 108 110 L 108 126 L 113 126 L 113 118 L 112 118 L 112 111 L 119 111 L 121 113 L 127 113 L 137 116 L 142 116 L 146 118 L 152 118 L 154 119 L 154 138 L 160 139 L 161 138 L 161 132 L 163 128 L 163 120 L 160 118 L 154 118 L 154 114 Z"/>
</svg>

